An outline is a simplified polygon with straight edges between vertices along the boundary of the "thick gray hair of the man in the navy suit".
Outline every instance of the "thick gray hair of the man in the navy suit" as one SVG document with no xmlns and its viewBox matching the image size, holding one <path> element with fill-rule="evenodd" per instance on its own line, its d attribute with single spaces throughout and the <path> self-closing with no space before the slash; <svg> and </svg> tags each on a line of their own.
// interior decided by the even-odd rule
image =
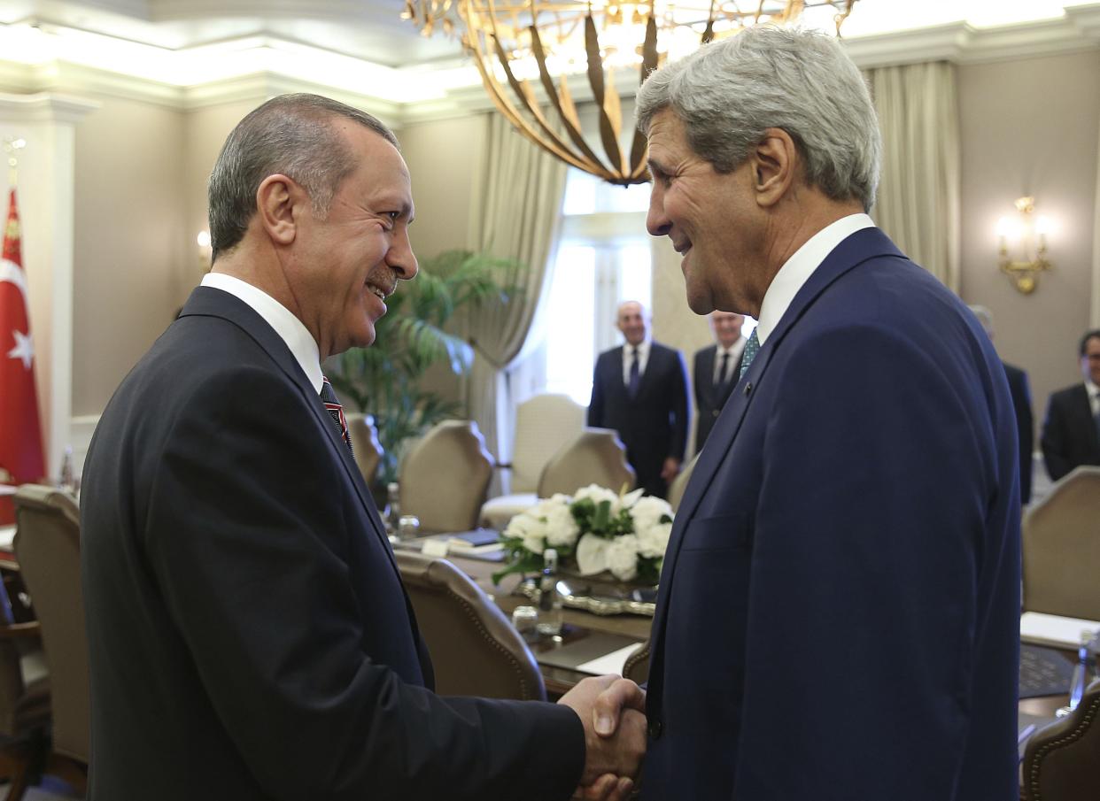
<svg viewBox="0 0 1100 801">
<path fill-rule="evenodd" d="M 738 167 L 769 127 L 787 131 L 811 186 L 875 204 L 882 138 L 867 84 L 832 36 L 756 25 L 650 74 L 638 129 L 671 109 L 688 144 L 718 173 Z"/>
</svg>

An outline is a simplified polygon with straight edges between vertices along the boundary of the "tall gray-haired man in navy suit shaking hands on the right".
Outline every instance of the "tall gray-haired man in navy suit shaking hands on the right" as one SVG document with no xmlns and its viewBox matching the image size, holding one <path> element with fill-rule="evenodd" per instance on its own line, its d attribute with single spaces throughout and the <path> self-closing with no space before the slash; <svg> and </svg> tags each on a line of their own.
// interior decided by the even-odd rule
<svg viewBox="0 0 1100 801">
<path fill-rule="evenodd" d="M 689 305 L 759 321 L 664 556 L 642 798 L 1015 798 L 1012 399 L 974 315 L 866 214 L 858 68 L 760 25 L 637 109 Z"/>
</svg>

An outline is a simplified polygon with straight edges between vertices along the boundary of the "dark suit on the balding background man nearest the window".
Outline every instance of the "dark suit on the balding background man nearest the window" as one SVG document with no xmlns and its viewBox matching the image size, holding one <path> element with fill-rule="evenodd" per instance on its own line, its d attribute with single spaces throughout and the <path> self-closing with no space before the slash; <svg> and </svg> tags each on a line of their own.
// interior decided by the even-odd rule
<svg viewBox="0 0 1100 801">
<path fill-rule="evenodd" d="M 600 354 L 592 378 L 588 425 L 618 432 L 627 460 L 638 475 L 638 486 L 650 494 L 663 498 L 668 492 L 661 478 L 664 459 L 683 460 L 688 414 L 688 369 L 679 351 L 650 343 L 649 360 L 634 399 L 623 383 L 623 348 Z"/>
</svg>

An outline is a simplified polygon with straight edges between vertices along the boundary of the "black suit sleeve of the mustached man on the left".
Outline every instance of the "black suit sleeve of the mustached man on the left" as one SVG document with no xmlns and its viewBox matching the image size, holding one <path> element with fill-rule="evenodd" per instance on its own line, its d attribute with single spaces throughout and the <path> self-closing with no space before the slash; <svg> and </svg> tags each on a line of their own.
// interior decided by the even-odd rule
<svg viewBox="0 0 1100 801">
<path fill-rule="evenodd" d="M 572 711 L 441 698 L 364 653 L 353 582 L 371 577 L 348 556 L 367 535 L 330 497 L 343 468 L 309 416 L 278 377 L 237 369 L 196 389 L 151 459 L 150 569 L 264 793 L 569 798 L 584 761 Z"/>
</svg>

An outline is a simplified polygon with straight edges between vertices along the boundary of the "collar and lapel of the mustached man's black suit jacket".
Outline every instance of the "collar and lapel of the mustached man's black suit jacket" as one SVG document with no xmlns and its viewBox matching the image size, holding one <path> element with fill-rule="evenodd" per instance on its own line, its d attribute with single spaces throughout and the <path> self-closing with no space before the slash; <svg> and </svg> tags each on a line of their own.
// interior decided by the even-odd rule
<svg viewBox="0 0 1100 801">
<path fill-rule="evenodd" d="M 324 432 L 324 437 L 330 448 L 334 452 L 336 458 L 340 460 L 348 472 L 348 478 L 359 494 L 360 502 L 363 504 L 366 518 L 371 521 L 371 527 L 375 536 L 385 544 L 385 552 L 389 557 L 389 561 L 394 569 L 397 570 L 397 561 L 394 559 L 393 550 L 389 547 L 389 538 L 382 530 L 374 499 L 371 498 L 371 493 L 363 482 L 363 476 L 348 452 L 348 446 L 337 436 L 332 419 L 328 416 L 328 413 L 321 405 L 319 396 L 314 391 L 312 385 L 309 383 L 309 379 L 302 372 L 301 366 L 294 358 L 294 354 L 290 353 L 290 348 L 287 347 L 283 338 L 248 303 L 220 289 L 197 287 L 191 292 L 191 297 L 188 299 L 183 312 L 180 312 L 180 316 L 191 314 L 222 318 L 240 327 L 267 353 L 272 361 L 297 387 L 314 419 L 320 425 L 321 431 Z"/>
</svg>

